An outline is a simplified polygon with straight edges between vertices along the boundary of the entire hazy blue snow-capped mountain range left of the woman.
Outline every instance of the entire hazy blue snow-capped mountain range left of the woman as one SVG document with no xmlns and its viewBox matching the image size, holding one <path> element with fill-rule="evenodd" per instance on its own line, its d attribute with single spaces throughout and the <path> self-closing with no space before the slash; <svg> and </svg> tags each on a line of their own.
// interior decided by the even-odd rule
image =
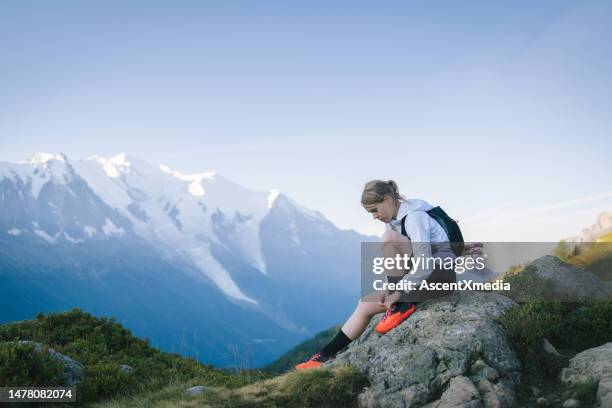
<svg viewBox="0 0 612 408">
<path fill-rule="evenodd" d="M 95 277 L 79 283 L 85 285 L 82 293 L 114 285 L 117 276 L 150 279 L 160 288 L 180 281 L 179 286 L 189 287 L 181 289 L 191 292 L 189 301 L 181 293 L 156 293 L 167 299 L 155 301 L 214 297 L 223 303 L 219 310 L 236 308 L 244 319 L 259 322 L 258 329 L 238 337 L 261 337 L 267 332 L 255 332 L 267 325 L 281 332 L 271 337 L 287 344 L 344 318 L 359 293 L 359 243 L 365 237 L 339 230 L 278 191 L 254 192 L 214 172 L 184 174 L 125 154 L 74 161 L 40 153 L 0 163 L 0 206 L 0 279 L 7 282 L 18 271 L 23 277 L 25 269 L 32 276 L 61 270 L 66 282 Z M 118 259 L 125 262 L 119 266 Z M 154 265 L 150 272 L 141 270 L 144 259 Z M 11 282 L 20 288 L 18 280 Z M 138 292 L 136 287 L 113 290 L 108 299 L 92 295 L 101 313 L 117 292 L 126 291 L 128 303 Z M 79 306 L 67 299 L 64 303 Z M 13 294 L 11 305 L 16 302 Z M 312 302 L 321 307 L 310 310 Z M 196 302 L 179 312 L 200 307 Z M 140 321 L 111 310 L 118 318 Z M 0 321 L 24 317 L 7 313 Z M 147 327 L 143 333 L 149 336 Z M 158 337 L 160 344 L 172 344 L 165 334 Z M 269 339 L 251 340 L 257 349 Z M 267 352 L 255 360 L 263 362 L 282 350 Z"/>
</svg>

